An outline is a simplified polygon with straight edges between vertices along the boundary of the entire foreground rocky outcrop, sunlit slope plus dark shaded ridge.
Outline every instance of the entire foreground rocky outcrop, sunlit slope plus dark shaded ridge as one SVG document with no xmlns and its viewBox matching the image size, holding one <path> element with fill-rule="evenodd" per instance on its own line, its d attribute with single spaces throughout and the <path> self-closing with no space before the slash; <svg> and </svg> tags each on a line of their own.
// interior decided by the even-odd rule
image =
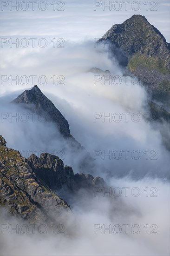
<svg viewBox="0 0 170 256">
<path fill-rule="evenodd" d="M 55 190 L 72 193 L 78 189 L 105 186 L 100 177 L 76 174 L 58 156 L 43 153 L 40 158 L 26 159 L 20 152 L 7 148 L 0 135 L 0 205 L 12 215 L 30 223 L 55 223 L 59 216 L 68 215 L 70 206 Z"/>
</svg>

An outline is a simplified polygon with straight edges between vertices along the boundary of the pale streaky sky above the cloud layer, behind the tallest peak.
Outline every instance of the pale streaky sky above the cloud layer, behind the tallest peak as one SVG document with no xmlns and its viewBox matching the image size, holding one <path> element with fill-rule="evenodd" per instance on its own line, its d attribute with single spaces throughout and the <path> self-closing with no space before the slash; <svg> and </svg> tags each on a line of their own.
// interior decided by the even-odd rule
<svg viewBox="0 0 170 256">
<path fill-rule="evenodd" d="M 34 11 L 32 3 L 26 2 L 27 4 L 19 5 L 17 11 L 16 7 L 10 4 L 3 7 L 1 36 L 59 36 L 65 40 L 78 41 L 100 38 L 112 25 L 122 23 L 133 14 L 141 14 L 157 27 L 168 42 L 170 41 L 168 0 L 104 1 L 104 3 L 92 0 L 67 0 L 63 3 L 55 1 L 55 5 L 52 1 L 46 1 L 46 6 L 39 5 L 40 1 L 37 1 Z M 111 6 L 105 6 L 109 2 Z M 26 8 L 28 9 L 24 11 L 23 9 Z"/>
</svg>

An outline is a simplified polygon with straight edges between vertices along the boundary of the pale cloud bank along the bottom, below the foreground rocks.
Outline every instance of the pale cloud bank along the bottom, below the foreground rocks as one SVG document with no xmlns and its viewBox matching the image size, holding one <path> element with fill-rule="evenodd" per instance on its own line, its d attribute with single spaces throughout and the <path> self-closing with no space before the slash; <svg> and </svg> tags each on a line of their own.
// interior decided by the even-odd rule
<svg viewBox="0 0 170 256">
<path fill-rule="evenodd" d="M 155 192 L 150 191 L 151 183 L 157 188 L 154 194 L 157 197 L 150 196 Z M 84 195 L 83 198 L 82 195 L 77 195 L 72 202 L 72 216 L 60 220 L 60 225 L 64 225 L 62 226 L 64 234 L 59 234 L 61 227 L 56 227 L 53 234 L 54 229 L 47 226 L 46 229 L 44 226 L 35 228 L 33 234 L 28 223 L 9 218 L 7 214 L 2 213 L 1 223 L 8 225 L 6 226 L 8 229 L 1 235 L 1 243 L 3 243 L 1 253 L 3 255 L 168 255 L 168 184 L 153 179 L 138 182 L 114 179 L 110 185 L 112 188 L 119 187 L 123 195 L 117 198 L 106 196 L 107 194 L 105 196 L 98 194 L 96 197 Z M 148 197 L 145 194 L 145 186 L 148 187 Z M 129 187 L 126 197 L 123 187 Z M 138 188 L 140 191 L 138 197 L 131 194 L 133 188 Z M 11 231 L 10 234 L 10 230 L 17 224 L 19 234 L 16 234 L 16 230 Z M 27 226 L 27 234 L 23 234 L 26 227 L 22 225 Z M 109 225 L 110 229 L 108 229 Z M 42 234 L 45 230 L 46 234 Z"/>
</svg>

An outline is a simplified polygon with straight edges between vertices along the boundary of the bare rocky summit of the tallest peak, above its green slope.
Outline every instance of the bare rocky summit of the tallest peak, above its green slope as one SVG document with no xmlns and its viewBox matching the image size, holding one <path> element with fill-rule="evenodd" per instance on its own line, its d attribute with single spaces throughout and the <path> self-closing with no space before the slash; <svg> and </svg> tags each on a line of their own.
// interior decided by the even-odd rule
<svg viewBox="0 0 170 256">
<path fill-rule="evenodd" d="M 116 24 L 102 37 L 110 39 L 130 60 L 134 54 L 159 57 L 162 66 L 170 69 L 170 44 L 142 15 L 133 15 L 122 24 Z M 151 63 L 150 64 L 154 64 Z M 158 68 L 158 67 L 157 67 Z"/>
</svg>

